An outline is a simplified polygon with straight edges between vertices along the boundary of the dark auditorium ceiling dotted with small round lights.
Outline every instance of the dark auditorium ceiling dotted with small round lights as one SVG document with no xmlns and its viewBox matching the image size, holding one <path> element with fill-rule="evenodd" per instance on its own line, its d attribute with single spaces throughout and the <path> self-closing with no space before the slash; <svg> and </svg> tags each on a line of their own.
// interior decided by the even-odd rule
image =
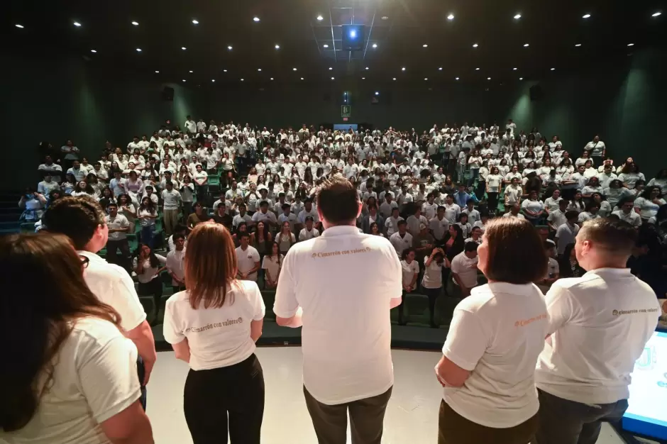
<svg viewBox="0 0 667 444">
<path fill-rule="evenodd" d="M 665 0 L 9 0 L 9 6 L 13 50 L 72 52 L 108 72 L 159 70 L 165 81 L 291 82 L 306 75 L 327 81 L 331 65 L 336 79 L 516 81 L 667 47 Z M 664 14 L 652 17 L 656 11 Z M 340 51 L 343 23 L 366 26 L 364 51 Z"/>
</svg>

